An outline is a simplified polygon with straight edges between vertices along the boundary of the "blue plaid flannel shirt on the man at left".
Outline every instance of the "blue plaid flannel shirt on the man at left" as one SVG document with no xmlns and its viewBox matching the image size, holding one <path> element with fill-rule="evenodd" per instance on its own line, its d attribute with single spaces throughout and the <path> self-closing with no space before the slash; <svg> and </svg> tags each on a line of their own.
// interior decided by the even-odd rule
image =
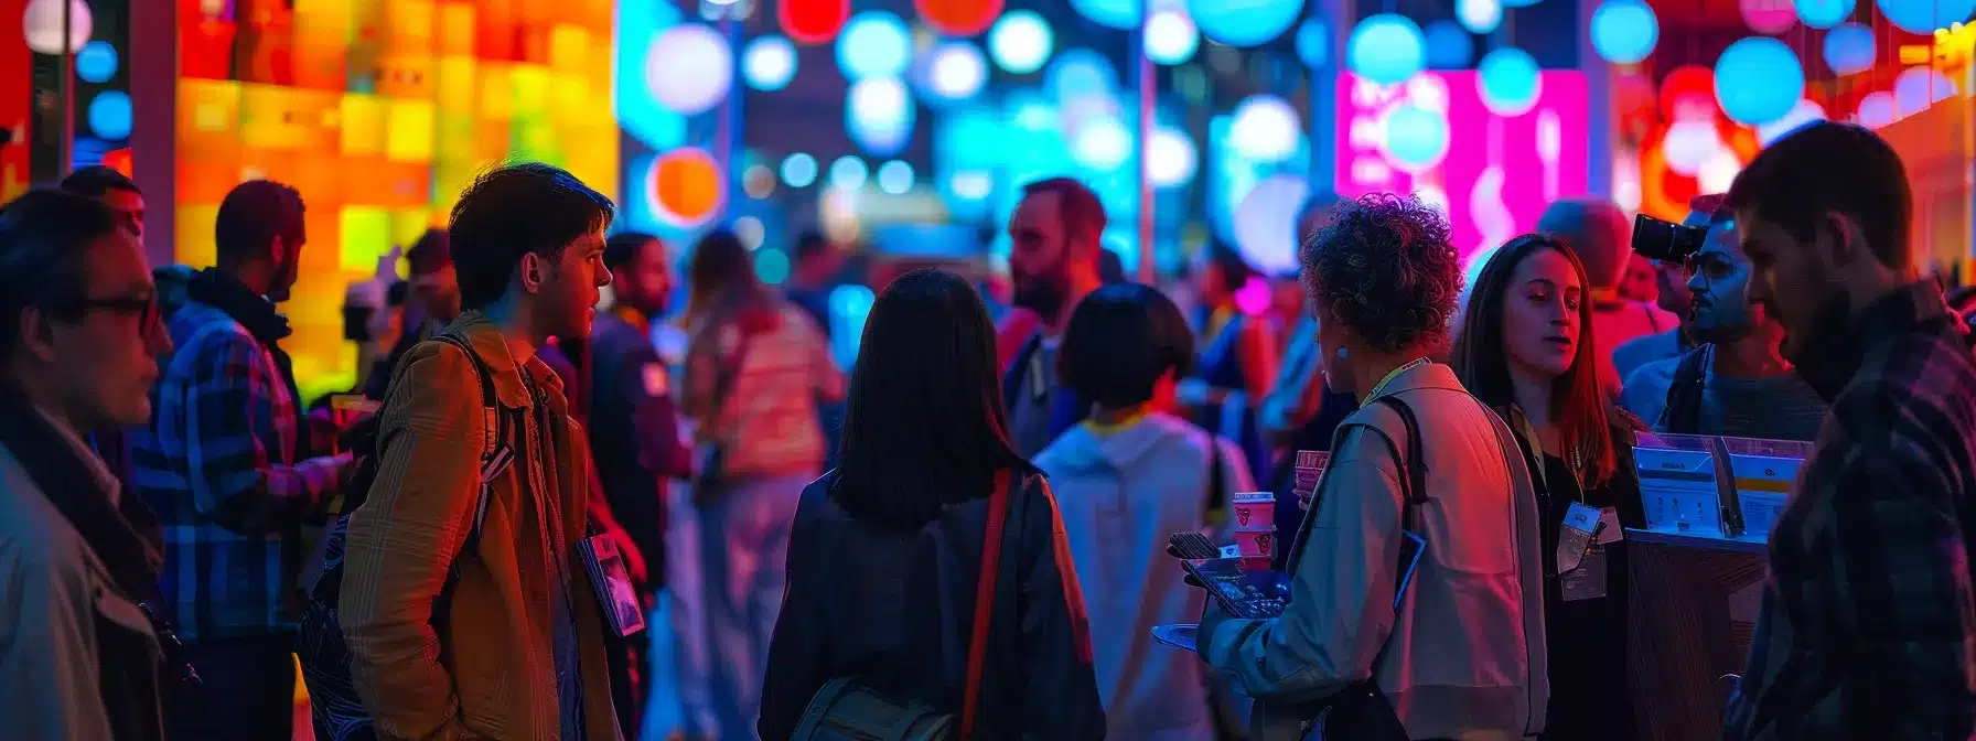
<svg viewBox="0 0 1976 741">
<path fill-rule="evenodd" d="M 162 591 L 186 640 L 294 630 L 300 524 L 346 458 L 296 464 L 288 385 L 247 330 L 186 302 L 148 429 L 130 433 L 132 484 L 164 520 Z"/>
</svg>

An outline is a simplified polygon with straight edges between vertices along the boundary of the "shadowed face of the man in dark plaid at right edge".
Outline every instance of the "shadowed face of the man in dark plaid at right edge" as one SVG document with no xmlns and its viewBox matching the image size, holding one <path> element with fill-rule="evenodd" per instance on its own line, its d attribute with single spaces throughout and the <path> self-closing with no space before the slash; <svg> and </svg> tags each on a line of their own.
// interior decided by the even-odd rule
<svg viewBox="0 0 1976 741">
<path fill-rule="evenodd" d="M 1828 213 L 1812 239 L 1804 241 L 1755 211 L 1737 209 L 1735 235 L 1749 259 L 1745 300 L 1784 326 L 1784 360 L 1802 362 L 1810 332 L 1820 326 L 1838 332 L 1852 312 L 1838 273 L 1844 269 L 1840 255 L 1873 261 L 1857 239 L 1857 223 L 1842 213 Z M 1846 243 L 1848 239 L 1855 243 Z"/>
</svg>

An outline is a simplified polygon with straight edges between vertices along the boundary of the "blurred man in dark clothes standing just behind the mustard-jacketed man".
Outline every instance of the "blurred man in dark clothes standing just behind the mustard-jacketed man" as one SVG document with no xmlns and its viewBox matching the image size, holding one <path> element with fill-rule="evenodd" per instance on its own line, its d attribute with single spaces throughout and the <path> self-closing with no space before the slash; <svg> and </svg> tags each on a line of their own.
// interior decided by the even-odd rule
<svg viewBox="0 0 1976 741">
<path fill-rule="evenodd" d="M 589 342 L 591 456 L 609 510 L 630 535 L 626 553 L 646 561 L 638 589 L 646 603 L 666 573 L 666 490 L 670 478 L 694 472 L 692 449 L 680 435 L 680 413 L 672 399 L 672 368 L 652 346 L 652 322 L 672 304 L 672 261 L 666 243 L 648 233 L 618 233 L 605 239 L 605 267 L 617 302 L 597 316 Z M 650 624 L 648 630 L 672 626 Z M 648 640 L 634 636 L 632 662 L 620 674 L 646 666 Z M 632 682 L 613 680 L 618 694 L 618 723 L 636 733 L 644 698 Z"/>
</svg>

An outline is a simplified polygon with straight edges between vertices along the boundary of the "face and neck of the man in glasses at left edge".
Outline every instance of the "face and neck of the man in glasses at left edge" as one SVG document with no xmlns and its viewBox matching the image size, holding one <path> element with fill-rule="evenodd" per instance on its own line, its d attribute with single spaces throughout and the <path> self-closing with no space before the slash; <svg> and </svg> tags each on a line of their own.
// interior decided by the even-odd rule
<svg viewBox="0 0 1976 741">
<path fill-rule="evenodd" d="M 156 287 L 144 249 L 128 231 L 89 243 L 83 259 L 81 312 L 41 314 L 26 350 L 51 370 L 61 405 L 79 429 L 150 421 L 150 385 L 172 338 L 158 318 Z"/>
</svg>

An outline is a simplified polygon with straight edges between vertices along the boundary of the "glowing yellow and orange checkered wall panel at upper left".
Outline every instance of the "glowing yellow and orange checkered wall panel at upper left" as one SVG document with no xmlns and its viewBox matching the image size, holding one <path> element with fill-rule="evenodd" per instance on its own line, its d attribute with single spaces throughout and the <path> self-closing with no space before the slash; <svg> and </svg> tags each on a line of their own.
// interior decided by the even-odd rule
<svg viewBox="0 0 1976 741">
<path fill-rule="evenodd" d="M 287 182 L 308 206 L 287 306 L 304 395 L 346 387 L 344 287 L 445 225 L 504 160 L 569 168 L 618 194 L 613 0 L 180 0 L 178 247 L 211 265 L 235 184 Z"/>
</svg>

